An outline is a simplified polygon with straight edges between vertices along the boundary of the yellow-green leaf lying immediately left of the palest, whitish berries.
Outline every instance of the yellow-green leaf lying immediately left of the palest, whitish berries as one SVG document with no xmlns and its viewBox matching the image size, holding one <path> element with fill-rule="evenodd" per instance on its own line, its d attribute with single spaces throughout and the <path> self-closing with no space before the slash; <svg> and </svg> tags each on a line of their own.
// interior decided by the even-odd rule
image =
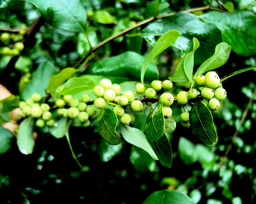
<svg viewBox="0 0 256 204">
<path fill-rule="evenodd" d="M 71 95 L 93 89 L 95 83 L 89 78 L 72 78 L 70 79 L 59 95 Z"/>
</svg>

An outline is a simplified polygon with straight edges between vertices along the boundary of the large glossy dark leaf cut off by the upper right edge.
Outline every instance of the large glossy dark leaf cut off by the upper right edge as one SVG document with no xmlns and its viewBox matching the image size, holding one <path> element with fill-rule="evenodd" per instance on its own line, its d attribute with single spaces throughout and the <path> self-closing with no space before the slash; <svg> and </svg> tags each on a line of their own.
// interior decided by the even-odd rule
<svg viewBox="0 0 256 204">
<path fill-rule="evenodd" d="M 256 16 L 245 11 L 235 13 L 207 12 L 200 16 L 207 23 L 217 25 L 222 41 L 231 45 L 238 55 L 256 54 Z"/>
</svg>

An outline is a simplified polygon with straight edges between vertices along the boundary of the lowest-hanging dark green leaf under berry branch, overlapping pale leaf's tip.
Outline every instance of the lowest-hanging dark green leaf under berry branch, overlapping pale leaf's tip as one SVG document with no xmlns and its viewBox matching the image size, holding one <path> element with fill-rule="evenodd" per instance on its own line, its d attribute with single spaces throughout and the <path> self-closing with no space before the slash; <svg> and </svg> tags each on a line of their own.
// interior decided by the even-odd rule
<svg viewBox="0 0 256 204">
<path fill-rule="evenodd" d="M 151 141 L 148 138 L 146 139 L 152 147 L 153 151 L 155 152 L 159 162 L 163 166 L 167 166 L 170 168 L 173 162 L 173 150 L 166 135 L 163 134 L 163 136 L 160 137 L 157 141 Z"/>
</svg>

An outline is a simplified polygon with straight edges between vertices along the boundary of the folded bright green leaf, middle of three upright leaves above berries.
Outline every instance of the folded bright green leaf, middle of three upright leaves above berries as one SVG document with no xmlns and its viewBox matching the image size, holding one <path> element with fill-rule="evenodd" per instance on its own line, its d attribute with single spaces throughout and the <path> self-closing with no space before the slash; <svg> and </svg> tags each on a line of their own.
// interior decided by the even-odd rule
<svg viewBox="0 0 256 204">
<path fill-rule="evenodd" d="M 194 53 L 199 47 L 199 41 L 193 38 L 188 53 L 182 57 L 175 69 L 174 73 L 169 76 L 169 80 L 173 82 L 191 82 L 194 68 Z"/>
</svg>

